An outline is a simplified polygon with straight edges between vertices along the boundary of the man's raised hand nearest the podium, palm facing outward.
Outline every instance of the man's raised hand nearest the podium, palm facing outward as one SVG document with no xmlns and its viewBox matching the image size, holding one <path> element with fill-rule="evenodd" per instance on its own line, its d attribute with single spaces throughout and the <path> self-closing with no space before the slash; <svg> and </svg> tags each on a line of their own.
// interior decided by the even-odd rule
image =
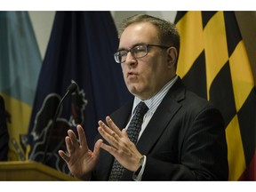
<svg viewBox="0 0 256 192">
<path fill-rule="evenodd" d="M 76 126 L 78 132 L 78 140 L 76 134 L 72 130 L 68 130 L 68 136 L 65 138 L 68 152 L 59 150 L 59 155 L 68 164 L 70 172 L 78 179 L 89 180 L 91 172 L 96 166 L 100 155 L 100 145 L 103 142 L 98 140 L 95 143 L 93 152 L 88 148 L 84 129 L 81 125 Z"/>
</svg>

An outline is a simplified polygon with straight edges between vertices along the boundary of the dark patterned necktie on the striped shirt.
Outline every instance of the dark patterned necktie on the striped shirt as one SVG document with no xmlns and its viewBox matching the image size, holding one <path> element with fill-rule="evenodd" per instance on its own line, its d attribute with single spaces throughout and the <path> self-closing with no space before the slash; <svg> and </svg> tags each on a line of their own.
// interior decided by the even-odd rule
<svg viewBox="0 0 256 192">
<path fill-rule="evenodd" d="M 132 117 L 132 120 L 128 126 L 127 134 L 129 139 L 136 144 L 138 136 L 141 129 L 141 124 L 143 122 L 143 116 L 147 113 L 147 105 L 140 101 L 140 103 L 135 108 L 135 115 Z M 112 167 L 112 171 L 109 176 L 109 180 L 120 180 L 124 172 L 124 167 L 119 164 L 116 159 Z"/>
</svg>

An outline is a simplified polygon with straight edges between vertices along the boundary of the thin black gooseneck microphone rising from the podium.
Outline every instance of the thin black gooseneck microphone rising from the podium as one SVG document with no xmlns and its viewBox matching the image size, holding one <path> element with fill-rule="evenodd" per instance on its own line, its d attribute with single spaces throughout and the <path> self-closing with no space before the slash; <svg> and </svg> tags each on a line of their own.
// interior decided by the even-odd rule
<svg viewBox="0 0 256 192">
<path fill-rule="evenodd" d="M 65 95 L 62 97 L 62 99 L 60 100 L 60 103 L 55 111 L 55 114 L 53 116 L 53 119 L 52 119 L 52 126 L 50 127 L 50 131 L 49 131 L 49 134 L 48 134 L 48 138 L 46 138 L 46 145 L 45 145 L 45 148 L 44 148 L 44 156 L 43 156 L 43 161 L 42 163 L 45 164 L 45 157 L 46 157 L 46 154 L 47 154 L 47 150 L 49 148 L 49 143 L 50 143 L 50 138 L 51 138 L 51 135 L 52 135 L 52 129 L 53 127 L 55 126 L 56 124 L 56 120 L 57 120 L 57 116 L 60 112 L 60 106 L 63 102 L 63 100 L 65 100 L 65 98 L 68 96 L 68 94 L 71 94 L 73 92 L 76 92 L 76 89 L 77 89 L 77 84 L 75 81 L 72 81 L 71 84 L 69 84 L 68 88 L 67 88 L 67 92 L 65 93 Z M 47 132 L 46 132 L 46 137 L 47 137 Z"/>
</svg>

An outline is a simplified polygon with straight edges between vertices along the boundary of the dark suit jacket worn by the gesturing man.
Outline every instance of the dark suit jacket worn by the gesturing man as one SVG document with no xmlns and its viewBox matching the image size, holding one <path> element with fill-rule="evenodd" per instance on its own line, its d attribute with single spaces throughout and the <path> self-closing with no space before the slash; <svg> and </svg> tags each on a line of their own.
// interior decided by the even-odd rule
<svg viewBox="0 0 256 192">
<path fill-rule="evenodd" d="M 111 115 L 124 128 L 132 101 Z M 156 109 L 137 143 L 147 163 L 142 180 L 228 180 L 228 149 L 220 112 L 188 92 L 180 77 Z M 92 180 L 108 180 L 114 157 L 101 149 Z M 122 180 L 132 180 L 124 171 Z"/>
</svg>

